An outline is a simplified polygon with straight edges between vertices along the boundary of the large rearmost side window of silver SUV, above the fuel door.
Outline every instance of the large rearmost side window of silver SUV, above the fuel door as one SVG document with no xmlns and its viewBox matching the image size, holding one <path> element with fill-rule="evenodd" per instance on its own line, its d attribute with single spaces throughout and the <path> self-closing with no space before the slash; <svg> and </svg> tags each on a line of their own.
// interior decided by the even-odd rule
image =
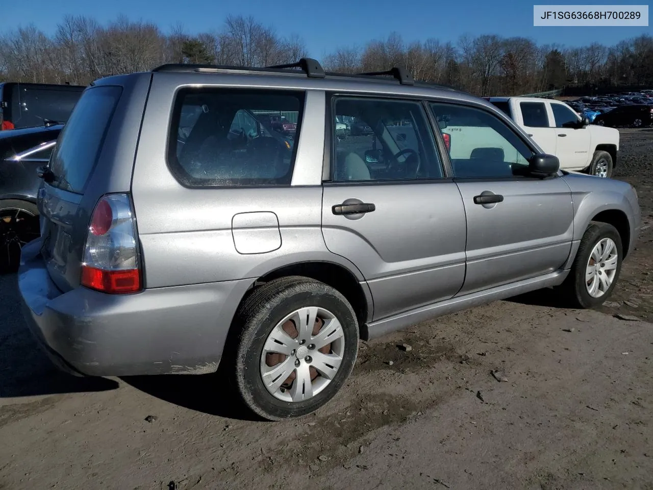
<svg viewBox="0 0 653 490">
<path fill-rule="evenodd" d="M 301 91 L 182 89 L 168 166 L 187 187 L 288 186 L 303 106 Z"/>
</svg>

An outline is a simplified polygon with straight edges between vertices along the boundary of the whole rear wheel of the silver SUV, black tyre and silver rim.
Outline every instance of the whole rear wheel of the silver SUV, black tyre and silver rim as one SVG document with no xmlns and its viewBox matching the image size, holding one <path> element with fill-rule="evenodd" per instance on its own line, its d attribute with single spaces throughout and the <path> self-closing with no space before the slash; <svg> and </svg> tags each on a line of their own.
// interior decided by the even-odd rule
<svg viewBox="0 0 653 490">
<path fill-rule="evenodd" d="M 301 417 L 326 404 L 351 374 L 358 320 L 336 289 L 293 276 L 255 289 L 240 308 L 235 385 L 268 420 Z"/>
</svg>

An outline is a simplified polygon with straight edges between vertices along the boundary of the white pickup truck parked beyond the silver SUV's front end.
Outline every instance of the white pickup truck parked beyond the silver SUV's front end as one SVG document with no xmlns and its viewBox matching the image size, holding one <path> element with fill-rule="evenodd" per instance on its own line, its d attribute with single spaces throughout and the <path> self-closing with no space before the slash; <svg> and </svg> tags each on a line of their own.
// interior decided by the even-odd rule
<svg viewBox="0 0 653 490">
<path fill-rule="evenodd" d="M 564 102 L 533 97 L 485 97 L 520 125 L 560 169 L 610 177 L 616 166 L 619 131 L 590 125 Z"/>
</svg>

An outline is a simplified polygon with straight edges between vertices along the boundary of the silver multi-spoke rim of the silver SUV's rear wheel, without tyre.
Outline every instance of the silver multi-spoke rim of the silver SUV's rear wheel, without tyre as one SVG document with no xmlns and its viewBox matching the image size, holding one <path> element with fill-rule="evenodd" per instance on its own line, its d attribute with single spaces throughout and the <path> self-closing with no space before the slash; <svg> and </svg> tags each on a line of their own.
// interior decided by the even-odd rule
<svg viewBox="0 0 653 490">
<path fill-rule="evenodd" d="M 333 380 L 345 354 L 345 334 L 334 314 L 317 306 L 277 323 L 261 353 L 261 378 L 274 397 L 301 402 Z"/>
</svg>

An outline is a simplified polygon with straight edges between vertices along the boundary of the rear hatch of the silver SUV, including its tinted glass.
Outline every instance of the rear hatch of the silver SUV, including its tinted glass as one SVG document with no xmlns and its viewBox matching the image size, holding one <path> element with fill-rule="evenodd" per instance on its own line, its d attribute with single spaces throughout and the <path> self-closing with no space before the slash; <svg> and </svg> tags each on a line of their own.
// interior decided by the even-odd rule
<svg viewBox="0 0 653 490">
<path fill-rule="evenodd" d="M 99 196 L 85 195 L 122 88 L 86 89 L 63 127 L 39 191 L 41 255 L 61 291 L 80 284 L 90 213 Z M 50 182 L 48 182 L 50 181 Z"/>
</svg>

